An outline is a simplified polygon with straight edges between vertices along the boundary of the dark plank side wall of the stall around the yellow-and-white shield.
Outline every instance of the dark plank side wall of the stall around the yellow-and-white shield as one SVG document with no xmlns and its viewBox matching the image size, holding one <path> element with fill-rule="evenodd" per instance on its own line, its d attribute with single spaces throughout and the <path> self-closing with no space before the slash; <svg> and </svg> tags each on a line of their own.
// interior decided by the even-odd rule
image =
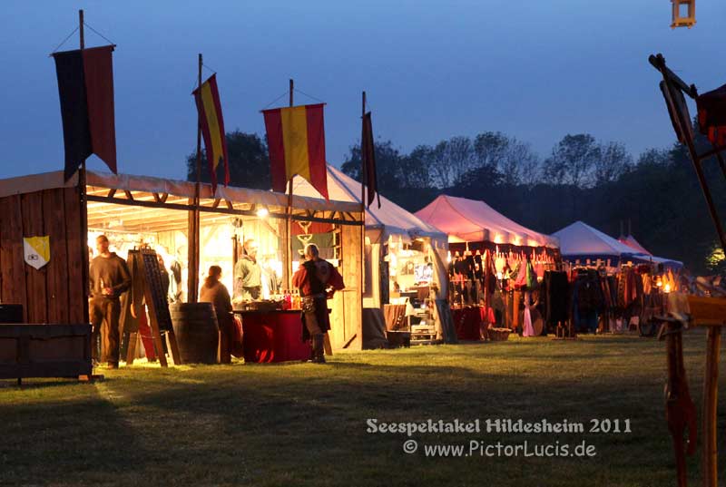
<svg viewBox="0 0 726 487">
<path fill-rule="evenodd" d="M 88 322 L 80 195 L 57 174 L 61 184 L 45 175 L 0 183 L 0 303 L 23 305 L 25 323 Z M 23 239 L 40 236 L 52 258 L 36 269 L 25 263 Z"/>
</svg>

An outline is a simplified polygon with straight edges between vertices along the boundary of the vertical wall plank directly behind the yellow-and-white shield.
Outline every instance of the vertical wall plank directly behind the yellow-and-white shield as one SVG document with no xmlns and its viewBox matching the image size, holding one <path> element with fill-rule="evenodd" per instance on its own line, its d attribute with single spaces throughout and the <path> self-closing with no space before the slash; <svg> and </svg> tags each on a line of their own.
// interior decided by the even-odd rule
<svg viewBox="0 0 726 487">
<path fill-rule="evenodd" d="M 43 191 L 21 195 L 20 205 L 23 213 L 23 237 L 44 236 Z M 47 274 L 47 266 L 36 269 L 25 264 L 28 323 L 48 322 L 48 301 L 45 285 Z"/>
</svg>

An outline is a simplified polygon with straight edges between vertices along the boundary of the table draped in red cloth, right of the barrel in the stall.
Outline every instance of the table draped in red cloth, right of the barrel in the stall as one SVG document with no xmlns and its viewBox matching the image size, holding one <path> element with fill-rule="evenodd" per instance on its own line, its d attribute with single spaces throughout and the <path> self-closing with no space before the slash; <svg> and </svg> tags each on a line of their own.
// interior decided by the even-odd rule
<svg viewBox="0 0 726 487">
<path fill-rule="evenodd" d="M 310 344 L 302 341 L 299 310 L 234 313 L 242 317 L 245 362 L 286 362 L 310 358 Z"/>
</svg>

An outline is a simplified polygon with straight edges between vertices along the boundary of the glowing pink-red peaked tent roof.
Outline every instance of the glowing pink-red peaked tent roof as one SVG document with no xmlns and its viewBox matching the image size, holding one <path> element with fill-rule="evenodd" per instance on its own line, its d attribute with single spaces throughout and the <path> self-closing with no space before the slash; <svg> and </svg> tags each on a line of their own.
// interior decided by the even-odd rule
<svg viewBox="0 0 726 487">
<path fill-rule="evenodd" d="M 528 247 L 559 247 L 556 238 L 523 227 L 484 201 L 440 195 L 426 208 L 419 209 L 416 216 L 445 231 L 451 241 L 459 239 Z"/>
</svg>

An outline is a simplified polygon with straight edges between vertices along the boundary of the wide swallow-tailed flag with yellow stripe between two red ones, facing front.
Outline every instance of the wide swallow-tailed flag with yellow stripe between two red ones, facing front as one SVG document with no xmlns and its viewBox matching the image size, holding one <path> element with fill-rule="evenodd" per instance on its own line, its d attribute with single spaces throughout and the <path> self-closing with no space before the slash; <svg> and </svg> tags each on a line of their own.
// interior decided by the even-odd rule
<svg viewBox="0 0 726 487">
<path fill-rule="evenodd" d="M 299 174 L 328 200 L 324 103 L 263 110 L 270 148 L 272 190 L 284 193 Z"/>
</svg>

